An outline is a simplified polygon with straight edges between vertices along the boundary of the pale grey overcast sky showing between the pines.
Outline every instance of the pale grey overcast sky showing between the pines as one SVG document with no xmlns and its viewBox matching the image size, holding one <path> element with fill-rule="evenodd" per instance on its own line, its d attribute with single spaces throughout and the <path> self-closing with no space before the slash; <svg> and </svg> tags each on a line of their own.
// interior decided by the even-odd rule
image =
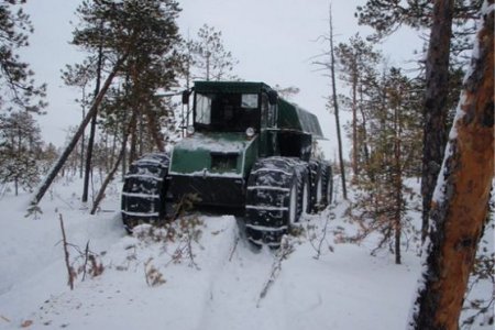
<svg viewBox="0 0 495 330">
<path fill-rule="evenodd" d="M 76 89 L 65 87 L 61 69 L 79 62 L 84 54 L 68 42 L 72 38 L 77 0 L 29 0 L 35 32 L 31 46 L 22 52 L 35 72 L 36 81 L 48 84 L 48 114 L 40 118 L 45 141 L 63 145 L 68 125 L 81 119 Z M 329 79 L 317 72 L 312 58 L 326 47 L 318 42 L 328 33 L 328 0 L 179 0 L 178 19 L 182 34 L 193 37 L 202 24 L 220 30 L 227 50 L 239 59 L 234 73 L 244 80 L 264 81 L 271 86 L 296 86 L 299 95 L 293 101 L 314 112 L 329 139 L 323 143 L 328 157 L 336 154 L 333 116 L 324 109 Z M 333 0 L 336 42 L 346 42 L 356 32 L 366 35 L 370 29 L 358 26 L 355 8 L 364 0 Z M 402 32 L 378 44 L 392 64 L 405 66 L 420 48 L 415 33 Z"/>
</svg>

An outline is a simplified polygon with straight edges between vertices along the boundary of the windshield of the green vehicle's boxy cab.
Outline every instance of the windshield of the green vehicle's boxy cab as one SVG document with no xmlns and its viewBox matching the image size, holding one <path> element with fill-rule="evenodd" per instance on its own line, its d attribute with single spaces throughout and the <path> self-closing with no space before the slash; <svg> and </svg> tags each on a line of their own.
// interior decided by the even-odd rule
<svg viewBox="0 0 495 330">
<path fill-rule="evenodd" d="M 196 127 L 209 131 L 244 132 L 260 125 L 257 94 L 196 94 Z"/>
</svg>

